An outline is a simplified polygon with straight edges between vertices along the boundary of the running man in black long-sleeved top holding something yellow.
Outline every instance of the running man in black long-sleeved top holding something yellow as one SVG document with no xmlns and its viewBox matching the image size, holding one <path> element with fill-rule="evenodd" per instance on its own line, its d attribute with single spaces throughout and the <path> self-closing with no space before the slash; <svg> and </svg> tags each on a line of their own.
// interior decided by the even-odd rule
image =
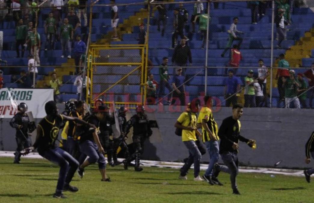
<svg viewBox="0 0 314 203">
<path fill-rule="evenodd" d="M 218 136 L 220 138 L 219 153 L 225 163 L 225 166 L 215 163 L 212 180 L 219 182 L 217 177 L 220 171 L 230 174 L 231 188 L 233 194 L 240 195 L 238 186 L 236 184 L 236 176 L 238 175 L 238 149 L 239 140 L 246 142 L 248 145 L 252 145 L 255 141 L 246 139 L 240 135 L 241 123 L 239 121 L 243 114 L 243 106 L 240 104 L 233 105 L 232 116 L 225 118 L 218 130 Z"/>
</svg>

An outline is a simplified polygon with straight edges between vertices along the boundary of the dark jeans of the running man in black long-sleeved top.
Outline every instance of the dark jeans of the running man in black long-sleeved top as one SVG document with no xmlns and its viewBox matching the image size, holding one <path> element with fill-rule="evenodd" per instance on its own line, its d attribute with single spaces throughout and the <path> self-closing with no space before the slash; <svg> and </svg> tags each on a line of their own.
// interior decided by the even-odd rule
<svg viewBox="0 0 314 203">
<path fill-rule="evenodd" d="M 230 174 L 231 188 L 237 189 L 236 176 L 239 173 L 238 169 L 238 156 L 234 152 L 224 152 L 221 154 L 221 159 L 224 161 L 225 166 L 220 165 L 219 170 Z"/>
</svg>

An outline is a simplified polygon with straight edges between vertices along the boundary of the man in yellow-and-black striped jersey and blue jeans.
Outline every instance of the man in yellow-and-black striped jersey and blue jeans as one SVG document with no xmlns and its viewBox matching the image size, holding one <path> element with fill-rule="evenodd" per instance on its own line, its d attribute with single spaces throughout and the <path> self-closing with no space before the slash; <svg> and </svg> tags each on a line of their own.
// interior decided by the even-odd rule
<svg viewBox="0 0 314 203">
<path fill-rule="evenodd" d="M 207 183 L 214 185 L 219 182 L 212 181 L 212 173 L 214 164 L 219 159 L 219 146 L 218 146 L 218 125 L 214 120 L 214 116 L 210 107 L 213 106 L 213 100 L 210 96 L 204 97 L 205 106 L 202 107 L 201 112 L 198 116 L 197 123 L 202 126 L 202 140 L 206 145 L 207 151 L 210 156 L 210 161 L 205 174 L 202 176 Z"/>
</svg>

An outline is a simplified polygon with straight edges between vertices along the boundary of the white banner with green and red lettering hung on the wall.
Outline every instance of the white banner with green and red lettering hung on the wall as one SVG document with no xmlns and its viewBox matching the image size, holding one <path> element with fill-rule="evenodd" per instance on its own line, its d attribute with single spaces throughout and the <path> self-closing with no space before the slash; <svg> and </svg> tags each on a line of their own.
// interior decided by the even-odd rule
<svg viewBox="0 0 314 203">
<path fill-rule="evenodd" d="M 46 116 L 45 104 L 53 100 L 53 89 L 0 89 L 0 118 L 12 118 L 17 113 L 17 105 L 24 102 L 34 118 Z"/>
</svg>

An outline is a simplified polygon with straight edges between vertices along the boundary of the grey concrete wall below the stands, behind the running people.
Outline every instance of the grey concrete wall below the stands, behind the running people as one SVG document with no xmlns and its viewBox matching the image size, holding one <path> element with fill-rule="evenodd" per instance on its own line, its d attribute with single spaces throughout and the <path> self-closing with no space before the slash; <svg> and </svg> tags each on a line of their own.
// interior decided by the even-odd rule
<svg viewBox="0 0 314 203">
<path fill-rule="evenodd" d="M 59 111 L 61 112 L 61 108 Z M 152 106 L 152 109 L 158 108 Z M 184 110 L 182 107 L 181 110 Z M 188 151 L 181 137 L 174 134 L 174 123 L 180 115 L 169 112 L 168 106 L 148 113 L 151 120 L 156 117 L 159 132 L 156 131 L 144 146 L 144 159 L 177 161 L 188 156 Z M 231 108 L 222 107 L 214 112 L 218 125 L 231 115 Z M 241 120 L 241 135 L 255 139 L 257 149 L 252 150 L 246 143 L 240 143 L 239 160 L 242 165 L 273 167 L 279 160 L 281 168 L 311 167 L 304 163 L 305 143 L 313 131 L 314 110 L 309 109 L 277 109 L 277 108 L 245 108 Z M 9 126 L 10 119 L 0 120 L 0 150 L 13 151 L 16 148 L 15 130 Z M 38 123 L 39 120 L 37 120 Z M 33 138 L 35 139 L 35 138 Z M 202 157 L 208 162 L 209 156 Z M 220 161 L 221 162 L 221 161 Z"/>
</svg>

